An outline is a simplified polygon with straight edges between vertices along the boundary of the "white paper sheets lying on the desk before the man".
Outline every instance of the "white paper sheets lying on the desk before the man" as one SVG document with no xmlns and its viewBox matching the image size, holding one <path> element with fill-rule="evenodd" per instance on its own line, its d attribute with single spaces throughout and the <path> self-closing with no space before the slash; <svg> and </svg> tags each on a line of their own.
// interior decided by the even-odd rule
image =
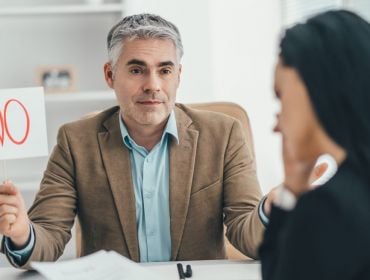
<svg viewBox="0 0 370 280">
<path fill-rule="evenodd" d="M 32 262 L 32 268 L 50 280 L 132 280 L 162 279 L 161 274 L 113 251 L 99 251 L 79 259 L 62 262 Z"/>
</svg>

